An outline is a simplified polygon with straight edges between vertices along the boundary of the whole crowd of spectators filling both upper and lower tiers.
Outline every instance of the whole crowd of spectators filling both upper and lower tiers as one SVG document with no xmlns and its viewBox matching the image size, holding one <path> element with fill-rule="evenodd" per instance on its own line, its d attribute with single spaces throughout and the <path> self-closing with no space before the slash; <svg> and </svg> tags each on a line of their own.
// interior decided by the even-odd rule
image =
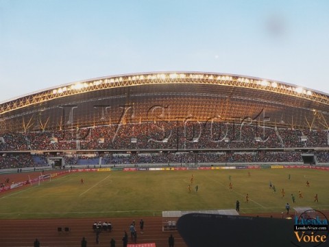
<svg viewBox="0 0 329 247">
<path fill-rule="evenodd" d="M 3 153 L 0 156 L 1 169 L 47 164 L 45 157 L 36 159 L 32 155 L 19 153 L 27 150 L 63 151 L 60 155 L 65 165 L 269 163 L 302 162 L 302 152 L 307 152 L 306 148 L 326 148 L 329 145 L 328 130 L 294 130 L 195 121 L 158 121 L 73 130 L 3 133 L 0 137 L 0 151 Z M 283 148 L 295 151 L 278 151 Z M 64 154 L 72 150 L 86 150 L 86 153 L 95 155 Z M 117 154 L 99 156 L 104 151 L 116 151 Z M 315 155 L 319 163 L 329 162 L 328 151 L 315 152 Z"/>
</svg>

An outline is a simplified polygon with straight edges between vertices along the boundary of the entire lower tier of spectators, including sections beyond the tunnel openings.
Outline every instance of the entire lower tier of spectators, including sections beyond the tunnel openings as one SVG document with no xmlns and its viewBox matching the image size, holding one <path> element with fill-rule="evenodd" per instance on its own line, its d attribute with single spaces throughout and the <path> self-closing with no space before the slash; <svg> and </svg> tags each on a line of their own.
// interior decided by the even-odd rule
<svg viewBox="0 0 329 247">
<path fill-rule="evenodd" d="M 300 150 L 295 151 L 273 151 L 255 150 L 246 152 L 234 152 L 226 150 L 221 152 L 149 152 L 149 153 L 129 153 L 129 154 L 102 154 L 86 156 L 62 154 L 64 165 L 70 166 L 90 166 L 95 165 L 202 165 L 202 164 L 230 164 L 230 163 L 303 163 Z M 314 152 L 317 163 L 329 163 L 328 151 Z M 47 157 L 31 154 L 7 154 L 0 156 L 0 169 L 13 169 L 24 167 L 47 166 Z"/>
</svg>

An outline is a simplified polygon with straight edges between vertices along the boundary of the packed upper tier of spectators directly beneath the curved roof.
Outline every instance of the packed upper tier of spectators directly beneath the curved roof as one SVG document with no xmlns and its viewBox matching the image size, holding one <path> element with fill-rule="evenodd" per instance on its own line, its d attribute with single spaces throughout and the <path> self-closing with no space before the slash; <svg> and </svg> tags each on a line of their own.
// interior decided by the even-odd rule
<svg viewBox="0 0 329 247">
<path fill-rule="evenodd" d="M 328 147 L 328 130 L 169 122 L 2 134 L 0 150 L 204 150 Z"/>
</svg>

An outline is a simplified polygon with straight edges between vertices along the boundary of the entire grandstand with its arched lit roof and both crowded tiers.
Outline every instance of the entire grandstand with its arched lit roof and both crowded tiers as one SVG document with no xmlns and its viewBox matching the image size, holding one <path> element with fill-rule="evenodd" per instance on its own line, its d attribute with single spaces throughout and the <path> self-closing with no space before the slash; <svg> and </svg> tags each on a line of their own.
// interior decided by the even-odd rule
<svg viewBox="0 0 329 247">
<path fill-rule="evenodd" d="M 0 104 L 0 167 L 327 164 L 328 104 L 325 93 L 220 73 L 76 82 Z"/>
</svg>

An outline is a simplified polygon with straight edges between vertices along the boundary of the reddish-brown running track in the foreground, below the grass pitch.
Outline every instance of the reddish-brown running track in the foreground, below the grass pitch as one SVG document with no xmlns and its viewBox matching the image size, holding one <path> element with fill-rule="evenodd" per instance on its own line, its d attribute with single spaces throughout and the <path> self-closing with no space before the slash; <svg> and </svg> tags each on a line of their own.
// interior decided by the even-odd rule
<svg viewBox="0 0 329 247">
<path fill-rule="evenodd" d="M 172 233 L 175 237 L 175 247 L 187 247 L 177 231 L 163 232 L 162 217 L 143 217 L 145 222 L 144 234 L 139 231 L 138 218 L 113 219 L 70 219 L 70 220 L 0 220 L 0 246 L 27 247 L 33 246 L 34 239 L 38 238 L 42 247 L 80 247 L 82 237 L 86 237 L 87 246 L 110 246 L 110 240 L 116 241 L 116 246 L 123 246 L 122 238 L 127 231 L 129 242 L 129 226 L 136 221 L 138 230 L 137 244 L 156 243 L 156 247 L 167 247 L 168 237 Z M 96 234 L 93 231 L 93 222 L 112 222 L 112 232 L 102 232 L 99 235 L 99 244 L 96 244 Z M 58 226 L 69 227 L 69 233 L 58 233 Z"/>
</svg>

